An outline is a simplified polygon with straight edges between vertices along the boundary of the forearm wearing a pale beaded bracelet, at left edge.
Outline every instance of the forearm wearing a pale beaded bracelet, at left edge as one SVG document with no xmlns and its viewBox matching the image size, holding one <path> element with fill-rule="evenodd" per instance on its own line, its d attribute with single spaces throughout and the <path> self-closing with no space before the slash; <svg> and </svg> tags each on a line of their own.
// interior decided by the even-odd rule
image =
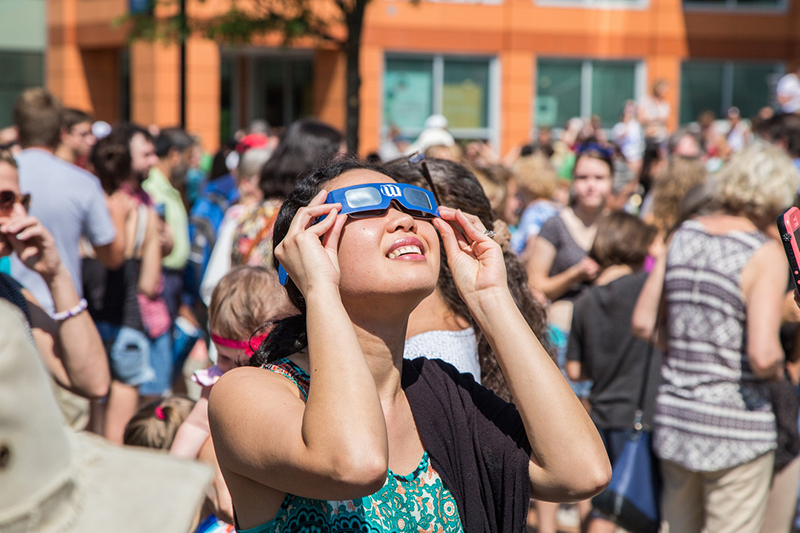
<svg viewBox="0 0 800 533">
<path fill-rule="evenodd" d="M 45 279 L 56 312 L 75 308 L 80 302 L 72 277 L 64 265 L 51 278 Z M 56 323 L 57 356 L 64 366 L 72 388 L 88 397 L 108 393 L 111 374 L 103 342 L 87 311 Z"/>
</svg>

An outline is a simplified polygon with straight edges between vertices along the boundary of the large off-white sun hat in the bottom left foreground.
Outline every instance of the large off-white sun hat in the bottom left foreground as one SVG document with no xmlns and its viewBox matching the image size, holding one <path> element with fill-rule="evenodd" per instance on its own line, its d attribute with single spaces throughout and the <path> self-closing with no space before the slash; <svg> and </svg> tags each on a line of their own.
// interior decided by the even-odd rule
<svg viewBox="0 0 800 533">
<path fill-rule="evenodd" d="M 18 308 L 0 299 L 0 532 L 186 533 L 211 471 L 64 425 Z"/>
</svg>

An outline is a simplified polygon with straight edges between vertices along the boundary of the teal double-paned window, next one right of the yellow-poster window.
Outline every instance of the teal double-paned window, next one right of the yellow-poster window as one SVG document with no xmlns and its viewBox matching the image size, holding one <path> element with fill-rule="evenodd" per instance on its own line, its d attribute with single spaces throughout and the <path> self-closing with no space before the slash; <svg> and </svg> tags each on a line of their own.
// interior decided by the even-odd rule
<svg viewBox="0 0 800 533">
<path fill-rule="evenodd" d="M 561 127 L 598 115 L 612 127 L 626 100 L 642 94 L 644 67 L 635 61 L 540 59 L 536 66 L 536 125 Z"/>
</svg>

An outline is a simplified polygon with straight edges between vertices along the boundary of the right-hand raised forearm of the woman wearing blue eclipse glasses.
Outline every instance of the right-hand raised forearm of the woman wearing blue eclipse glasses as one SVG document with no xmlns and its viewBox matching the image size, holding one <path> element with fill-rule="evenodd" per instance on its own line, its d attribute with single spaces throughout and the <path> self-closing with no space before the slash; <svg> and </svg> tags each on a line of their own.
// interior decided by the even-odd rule
<svg viewBox="0 0 800 533">
<path fill-rule="evenodd" d="M 492 346 L 531 445 L 533 495 L 585 499 L 608 483 L 602 440 L 557 366 L 507 293 L 470 306 Z"/>
</svg>

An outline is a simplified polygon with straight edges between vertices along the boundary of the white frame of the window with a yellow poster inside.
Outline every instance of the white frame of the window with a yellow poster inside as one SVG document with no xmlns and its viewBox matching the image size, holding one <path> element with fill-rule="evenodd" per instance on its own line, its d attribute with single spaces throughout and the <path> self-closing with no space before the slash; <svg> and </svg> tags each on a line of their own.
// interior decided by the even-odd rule
<svg viewBox="0 0 800 533">
<path fill-rule="evenodd" d="M 488 84 L 488 105 L 485 128 L 448 128 L 448 131 L 458 141 L 459 139 L 486 139 L 492 146 L 500 146 L 500 58 L 496 55 L 485 54 L 449 54 L 438 52 L 395 52 L 386 50 L 382 57 L 382 75 L 380 76 L 380 101 L 378 110 L 380 113 L 380 135 L 381 139 L 386 139 L 389 133 L 389 125 L 386 124 L 384 116 L 384 105 L 386 100 L 386 64 L 387 60 L 408 59 L 408 60 L 430 60 L 431 61 L 431 114 L 442 114 L 444 92 L 444 64 L 447 60 L 455 61 L 486 61 L 488 64 L 489 84 Z M 416 139 L 424 130 L 420 128 L 401 128 L 400 133 L 408 139 Z"/>
</svg>

